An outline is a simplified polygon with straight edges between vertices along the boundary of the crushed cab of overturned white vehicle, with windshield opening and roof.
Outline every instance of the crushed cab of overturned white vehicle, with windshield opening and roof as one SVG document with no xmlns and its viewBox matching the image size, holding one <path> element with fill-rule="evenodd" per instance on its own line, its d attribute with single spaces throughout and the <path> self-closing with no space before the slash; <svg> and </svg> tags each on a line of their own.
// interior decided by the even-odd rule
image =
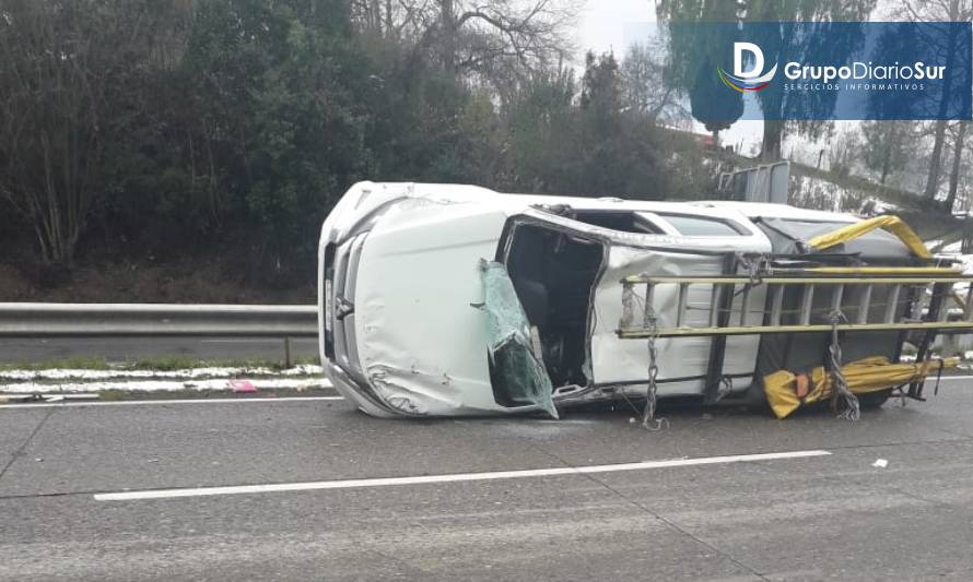
<svg viewBox="0 0 973 582">
<path fill-rule="evenodd" d="M 535 352 L 548 372 L 554 402 L 645 394 L 648 351 L 644 343 L 618 336 L 620 281 L 646 273 L 716 276 L 746 271 L 741 258 L 767 252 L 770 244 L 746 218 L 727 214 L 705 209 L 684 216 L 546 206 L 508 221 L 497 261 L 505 264 L 534 330 L 539 344 Z M 753 293 L 763 290 L 757 287 Z M 682 323 L 671 321 L 677 313 L 710 317 L 713 301 L 722 302 L 726 319 L 759 317 L 742 311 L 742 297 L 714 297 L 703 286 L 648 300 L 666 324 Z M 758 346 L 758 337 L 747 336 L 700 337 L 678 346 L 660 338 L 659 394 L 714 401 L 731 390 L 745 391 L 753 378 Z M 714 359 L 714 352 L 720 357 Z"/>
</svg>

